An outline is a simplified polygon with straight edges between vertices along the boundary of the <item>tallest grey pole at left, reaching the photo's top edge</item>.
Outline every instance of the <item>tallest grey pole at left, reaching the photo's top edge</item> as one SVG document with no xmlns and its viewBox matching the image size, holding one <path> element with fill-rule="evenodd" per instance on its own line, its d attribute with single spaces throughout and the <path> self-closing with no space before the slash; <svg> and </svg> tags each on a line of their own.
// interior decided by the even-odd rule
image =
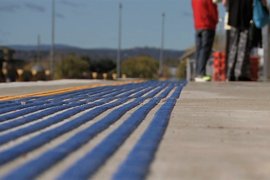
<svg viewBox="0 0 270 180">
<path fill-rule="evenodd" d="M 55 0 L 52 0 L 52 44 L 51 44 L 51 77 L 54 76 L 55 59 Z"/>
</svg>

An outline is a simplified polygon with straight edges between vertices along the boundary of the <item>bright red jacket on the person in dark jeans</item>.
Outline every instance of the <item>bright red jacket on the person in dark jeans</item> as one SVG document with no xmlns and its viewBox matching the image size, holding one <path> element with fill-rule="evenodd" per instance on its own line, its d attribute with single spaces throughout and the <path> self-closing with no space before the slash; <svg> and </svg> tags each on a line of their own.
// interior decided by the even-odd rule
<svg viewBox="0 0 270 180">
<path fill-rule="evenodd" d="M 192 0 L 195 29 L 215 29 L 218 23 L 217 5 L 212 0 Z"/>
</svg>

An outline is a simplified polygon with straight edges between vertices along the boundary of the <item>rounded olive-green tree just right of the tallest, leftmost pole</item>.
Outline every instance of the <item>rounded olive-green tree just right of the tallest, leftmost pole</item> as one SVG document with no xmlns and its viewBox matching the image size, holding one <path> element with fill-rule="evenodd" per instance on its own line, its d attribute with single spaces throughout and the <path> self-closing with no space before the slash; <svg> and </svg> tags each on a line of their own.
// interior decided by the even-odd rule
<svg viewBox="0 0 270 180">
<path fill-rule="evenodd" d="M 71 78 L 80 79 L 83 77 L 84 72 L 89 71 L 90 64 L 75 56 L 75 54 L 68 54 L 62 64 L 57 64 L 55 76 L 57 78 Z"/>
</svg>

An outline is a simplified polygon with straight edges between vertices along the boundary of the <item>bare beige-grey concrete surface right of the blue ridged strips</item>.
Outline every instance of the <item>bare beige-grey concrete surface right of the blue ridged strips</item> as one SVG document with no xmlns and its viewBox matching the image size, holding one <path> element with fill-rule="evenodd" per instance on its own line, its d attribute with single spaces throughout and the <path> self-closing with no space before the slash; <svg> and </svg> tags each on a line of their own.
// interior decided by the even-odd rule
<svg viewBox="0 0 270 180">
<path fill-rule="evenodd" d="M 270 179 L 270 86 L 189 83 L 149 179 Z"/>
</svg>

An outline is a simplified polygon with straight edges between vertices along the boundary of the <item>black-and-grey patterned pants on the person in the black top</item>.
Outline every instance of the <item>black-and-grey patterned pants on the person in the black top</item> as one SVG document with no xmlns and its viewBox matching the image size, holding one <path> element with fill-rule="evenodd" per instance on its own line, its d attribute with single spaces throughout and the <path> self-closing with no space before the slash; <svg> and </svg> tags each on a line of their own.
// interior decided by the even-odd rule
<svg viewBox="0 0 270 180">
<path fill-rule="evenodd" d="M 231 28 L 230 52 L 228 56 L 227 79 L 239 80 L 249 78 L 250 47 L 248 29 Z"/>
</svg>

